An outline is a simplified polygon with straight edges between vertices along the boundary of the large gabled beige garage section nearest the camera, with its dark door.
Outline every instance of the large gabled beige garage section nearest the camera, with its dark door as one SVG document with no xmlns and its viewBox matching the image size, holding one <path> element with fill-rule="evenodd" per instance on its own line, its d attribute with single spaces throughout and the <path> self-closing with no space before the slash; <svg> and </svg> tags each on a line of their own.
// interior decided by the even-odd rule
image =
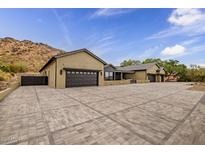
<svg viewBox="0 0 205 154">
<path fill-rule="evenodd" d="M 107 63 L 87 49 L 79 49 L 52 57 L 40 70 L 48 76 L 53 88 L 98 86 L 104 82 Z"/>
</svg>

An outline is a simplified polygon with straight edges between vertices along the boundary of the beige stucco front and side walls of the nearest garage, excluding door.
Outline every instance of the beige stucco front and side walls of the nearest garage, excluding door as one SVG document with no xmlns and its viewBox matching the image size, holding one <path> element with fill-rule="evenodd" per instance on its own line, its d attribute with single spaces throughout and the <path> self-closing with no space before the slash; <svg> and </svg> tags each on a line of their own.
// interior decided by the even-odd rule
<svg viewBox="0 0 205 154">
<path fill-rule="evenodd" d="M 48 75 L 50 87 L 66 88 L 66 71 L 64 68 L 100 70 L 98 72 L 98 85 L 103 85 L 104 64 L 86 52 L 78 52 L 57 58 L 41 72 Z M 61 71 L 62 74 L 60 74 Z"/>
</svg>

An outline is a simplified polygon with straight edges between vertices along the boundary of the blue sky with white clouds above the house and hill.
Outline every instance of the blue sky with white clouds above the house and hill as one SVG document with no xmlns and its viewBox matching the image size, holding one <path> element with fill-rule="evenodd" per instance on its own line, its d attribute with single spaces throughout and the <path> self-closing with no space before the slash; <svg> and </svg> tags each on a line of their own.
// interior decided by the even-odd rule
<svg viewBox="0 0 205 154">
<path fill-rule="evenodd" d="M 205 9 L 0 9 L 0 38 L 87 48 L 107 63 L 176 59 L 205 66 Z"/>
</svg>

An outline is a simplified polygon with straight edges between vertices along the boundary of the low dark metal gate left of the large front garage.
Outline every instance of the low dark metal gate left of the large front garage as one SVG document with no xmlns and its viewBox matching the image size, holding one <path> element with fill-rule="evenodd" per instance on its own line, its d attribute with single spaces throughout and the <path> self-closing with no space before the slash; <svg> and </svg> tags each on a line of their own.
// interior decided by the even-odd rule
<svg viewBox="0 0 205 154">
<path fill-rule="evenodd" d="M 48 85 L 47 76 L 21 76 L 21 86 Z"/>
</svg>

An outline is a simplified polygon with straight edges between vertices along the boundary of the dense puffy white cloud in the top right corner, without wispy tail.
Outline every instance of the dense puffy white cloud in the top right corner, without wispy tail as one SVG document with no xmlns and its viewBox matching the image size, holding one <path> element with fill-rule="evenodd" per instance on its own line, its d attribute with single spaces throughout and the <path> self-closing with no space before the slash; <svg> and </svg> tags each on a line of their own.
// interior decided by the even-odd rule
<svg viewBox="0 0 205 154">
<path fill-rule="evenodd" d="M 177 26 L 192 25 L 204 20 L 205 14 L 200 9 L 176 9 L 168 21 Z"/>
</svg>

